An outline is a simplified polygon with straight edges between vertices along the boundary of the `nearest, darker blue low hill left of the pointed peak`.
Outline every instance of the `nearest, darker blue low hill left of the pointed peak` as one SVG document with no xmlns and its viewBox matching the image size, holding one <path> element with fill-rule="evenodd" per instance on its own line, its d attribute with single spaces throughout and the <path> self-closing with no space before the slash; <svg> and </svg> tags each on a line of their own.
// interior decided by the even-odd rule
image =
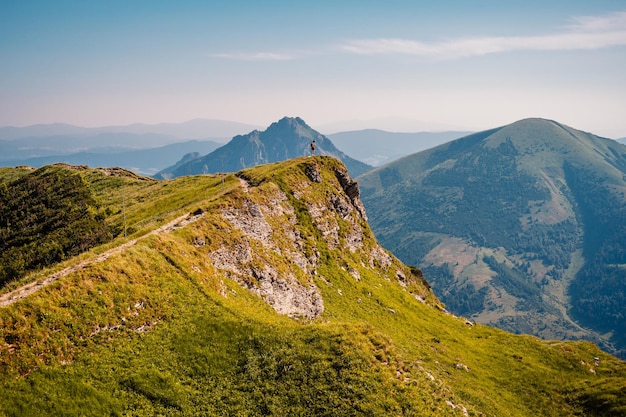
<svg viewBox="0 0 626 417">
<path fill-rule="evenodd" d="M 221 145 L 221 143 L 209 140 L 192 140 L 138 150 L 96 148 L 91 152 L 78 152 L 69 155 L 51 155 L 0 161 L 0 165 L 27 165 L 38 168 L 44 165 L 63 162 L 72 165 L 88 165 L 90 167 L 115 166 L 126 168 L 142 175 L 154 175 L 162 169 L 176 163 L 182 155 L 195 152 L 199 156 L 211 152 Z"/>
</svg>

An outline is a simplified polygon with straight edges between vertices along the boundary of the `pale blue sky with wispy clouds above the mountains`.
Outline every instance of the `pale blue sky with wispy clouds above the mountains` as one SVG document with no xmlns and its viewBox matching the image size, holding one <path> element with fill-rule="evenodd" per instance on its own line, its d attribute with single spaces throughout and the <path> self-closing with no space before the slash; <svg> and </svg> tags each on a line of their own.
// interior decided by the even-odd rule
<svg viewBox="0 0 626 417">
<path fill-rule="evenodd" d="M 0 126 L 626 137 L 626 0 L 0 0 Z"/>
</svg>

